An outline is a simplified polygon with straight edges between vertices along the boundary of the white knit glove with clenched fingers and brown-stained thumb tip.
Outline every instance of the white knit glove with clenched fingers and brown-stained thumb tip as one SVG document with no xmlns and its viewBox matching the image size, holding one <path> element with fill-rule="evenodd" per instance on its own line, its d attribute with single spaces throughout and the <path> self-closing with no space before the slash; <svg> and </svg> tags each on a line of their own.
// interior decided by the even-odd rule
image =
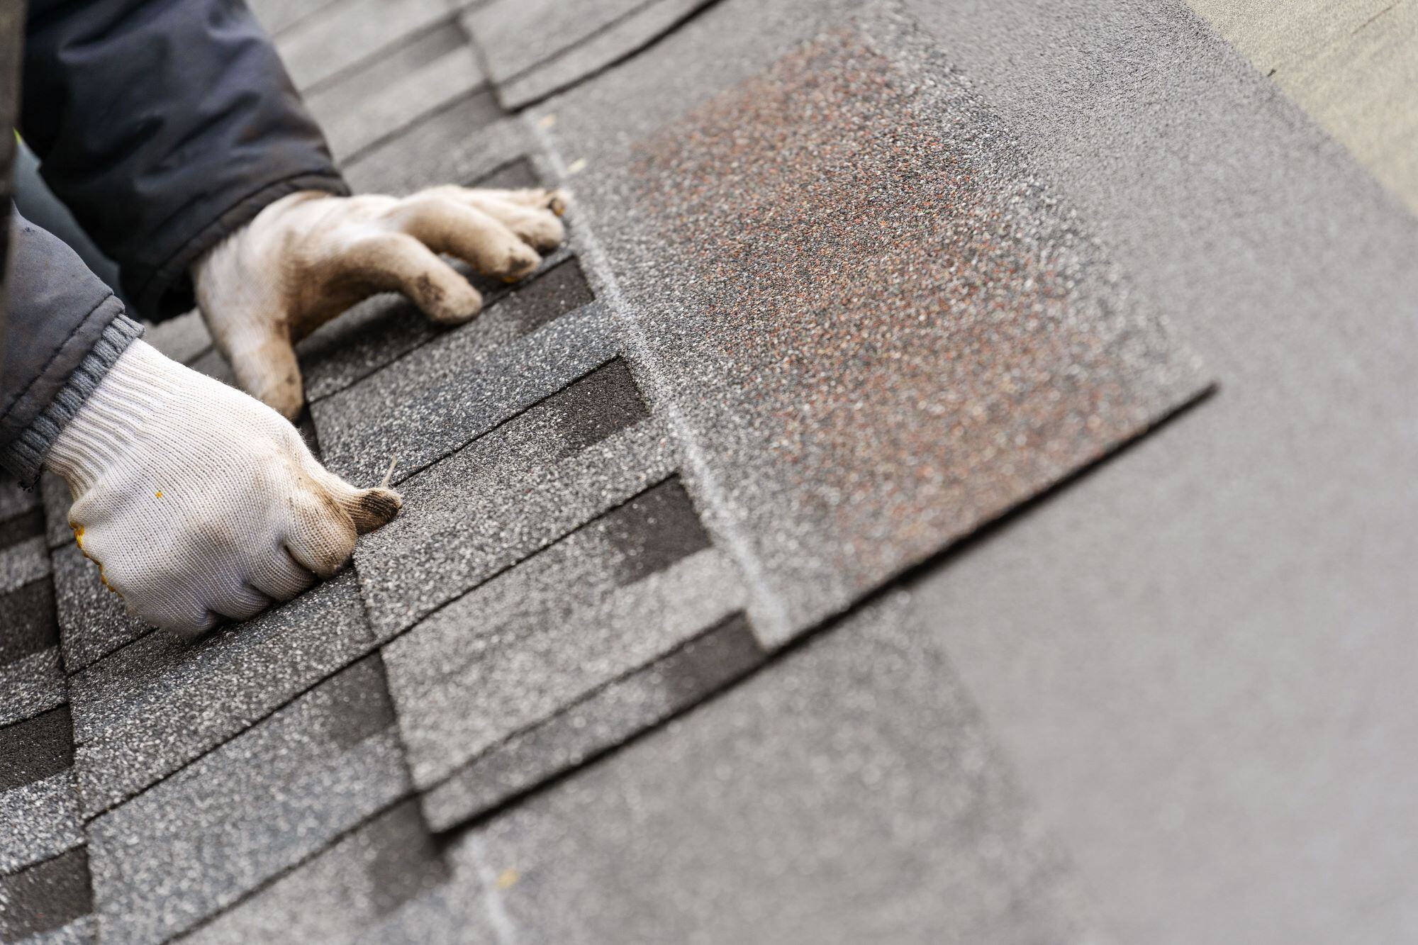
<svg viewBox="0 0 1418 945">
<path fill-rule="evenodd" d="M 329 578 L 354 534 L 398 512 L 316 461 L 275 410 L 135 341 L 45 467 L 69 525 L 133 616 L 182 636 L 244 620 Z"/>
</svg>

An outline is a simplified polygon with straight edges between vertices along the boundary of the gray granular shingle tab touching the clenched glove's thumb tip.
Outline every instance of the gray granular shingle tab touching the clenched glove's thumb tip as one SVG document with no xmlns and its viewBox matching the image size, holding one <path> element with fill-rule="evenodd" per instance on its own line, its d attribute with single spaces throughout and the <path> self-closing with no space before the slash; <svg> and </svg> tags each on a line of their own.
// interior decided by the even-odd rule
<svg viewBox="0 0 1418 945">
<path fill-rule="evenodd" d="M 404 509 L 354 552 L 379 639 L 648 485 L 676 460 L 617 360 L 400 487 Z"/>
</svg>

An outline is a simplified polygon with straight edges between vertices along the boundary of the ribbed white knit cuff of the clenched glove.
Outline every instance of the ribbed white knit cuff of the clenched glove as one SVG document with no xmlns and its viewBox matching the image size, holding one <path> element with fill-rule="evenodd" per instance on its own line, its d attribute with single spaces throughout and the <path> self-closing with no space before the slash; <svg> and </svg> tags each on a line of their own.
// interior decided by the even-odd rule
<svg viewBox="0 0 1418 945">
<path fill-rule="evenodd" d="M 60 430 L 44 465 L 68 482 L 75 498 L 86 492 L 135 448 L 159 404 L 177 393 L 186 370 L 152 345 L 133 341 Z"/>
</svg>

